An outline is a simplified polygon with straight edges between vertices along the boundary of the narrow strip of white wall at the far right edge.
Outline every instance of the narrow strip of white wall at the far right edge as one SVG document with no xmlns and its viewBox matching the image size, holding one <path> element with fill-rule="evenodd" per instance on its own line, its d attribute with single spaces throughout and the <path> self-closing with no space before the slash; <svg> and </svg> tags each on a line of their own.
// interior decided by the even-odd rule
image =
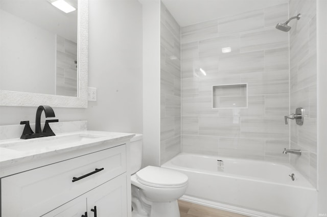
<svg viewBox="0 0 327 217">
<path fill-rule="evenodd" d="M 327 214 L 327 1 L 317 0 L 318 216 Z"/>
</svg>

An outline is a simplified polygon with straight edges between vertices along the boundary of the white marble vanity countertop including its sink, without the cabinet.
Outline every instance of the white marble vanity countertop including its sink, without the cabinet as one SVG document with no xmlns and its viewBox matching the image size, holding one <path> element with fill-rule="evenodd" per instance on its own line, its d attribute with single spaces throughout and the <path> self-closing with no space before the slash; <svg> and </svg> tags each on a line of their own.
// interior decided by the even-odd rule
<svg viewBox="0 0 327 217">
<path fill-rule="evenodd" d="M 126 142 L 134 135 L 133 133 L 83 130 L 58 133 L 53 137 L 0 140 L 0 168 L 104 143 Z"/>
</svg>

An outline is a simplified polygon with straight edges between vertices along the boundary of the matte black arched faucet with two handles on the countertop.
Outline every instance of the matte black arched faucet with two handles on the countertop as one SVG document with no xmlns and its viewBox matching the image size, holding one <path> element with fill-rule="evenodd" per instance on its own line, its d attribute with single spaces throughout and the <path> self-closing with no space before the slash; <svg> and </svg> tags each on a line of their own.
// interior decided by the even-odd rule
<svg viewBox="0 0 327 217">
<path fill-rule="evenodd" d="M 39 137 L 51 137 L 52 135 L 56 135 L 50 128 L 49 123 L 58 122 L 58 119 L 45 120 L 43 131 L 41 130 L 41 114 L 43 111 L 46 118 L 56 117 L 52 107 L 48 105 L 38 106 L 36 110 L 36 118 L 35 118 L 35 133 L 31 129 L 29 121 L 21 121 L 20 124 L 25 124 L 25 127 L 21 134 L 20 139 L 26 140 L 26 139 L 39 138 Z"/>
</svg>

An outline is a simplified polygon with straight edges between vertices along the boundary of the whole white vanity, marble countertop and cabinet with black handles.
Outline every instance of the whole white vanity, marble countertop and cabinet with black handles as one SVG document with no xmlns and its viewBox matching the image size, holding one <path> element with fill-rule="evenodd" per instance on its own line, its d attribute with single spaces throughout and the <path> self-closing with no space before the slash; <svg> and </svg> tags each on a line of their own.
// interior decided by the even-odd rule
<svg viewBox="0 0 327 217">
<path fill-rule="evenodd" d="M 133 135 L 85 130 L 0 141 L 1 216 L 131 216 Z"/>
</svg>

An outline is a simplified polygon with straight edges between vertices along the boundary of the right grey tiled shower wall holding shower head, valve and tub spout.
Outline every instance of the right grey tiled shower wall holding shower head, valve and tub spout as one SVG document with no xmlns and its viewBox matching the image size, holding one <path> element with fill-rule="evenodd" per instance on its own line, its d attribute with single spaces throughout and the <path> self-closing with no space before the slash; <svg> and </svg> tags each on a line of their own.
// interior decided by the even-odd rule
<svg viewBox="0 0 327 217">
<path fill-rule="evenodd" d="M 291 164 L 317 186 L 317 52 L 316 0 L 290 1 L 290 16 L 301 13 L 290 25 L 291 113 L 305 108 L 302 126 L 291 122 L 291 149 L 301 149 L 301 156 L 291 155 Z"/>
</svg>

